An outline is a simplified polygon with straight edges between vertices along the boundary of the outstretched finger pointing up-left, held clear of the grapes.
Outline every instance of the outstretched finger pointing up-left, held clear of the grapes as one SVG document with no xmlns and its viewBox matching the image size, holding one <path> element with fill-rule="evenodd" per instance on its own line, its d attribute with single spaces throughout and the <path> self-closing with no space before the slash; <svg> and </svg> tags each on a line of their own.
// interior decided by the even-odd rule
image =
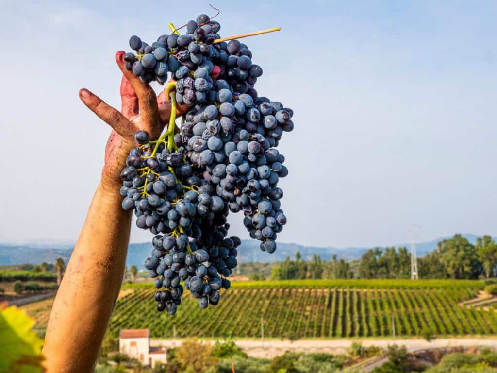
<svg viewBox="0 0 497 373">
<path fill-rule="evenodd" d="M 107 105 L 100 97 L 85 88 L 80 90 L 80 98 L 91 111 L 111 126 L 118 134 L 124 138 L 133 138 L 135 133 L 133 123 L 126 119 L 118 110 Z"/>
</svg>

